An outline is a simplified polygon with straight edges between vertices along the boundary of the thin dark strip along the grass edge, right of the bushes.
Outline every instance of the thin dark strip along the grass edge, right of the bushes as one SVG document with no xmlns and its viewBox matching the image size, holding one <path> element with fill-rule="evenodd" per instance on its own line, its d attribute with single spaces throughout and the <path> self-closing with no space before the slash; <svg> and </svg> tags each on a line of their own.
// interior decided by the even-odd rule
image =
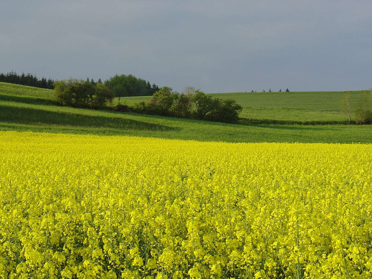
<svg viewBox="0 0 372 279">
<path fill-rule="evenodd" d="M 240 118 L 238 122 L 247 125 L 349 125 L 349 121 L 292 121 L 275 119 Z"/>
</svg>

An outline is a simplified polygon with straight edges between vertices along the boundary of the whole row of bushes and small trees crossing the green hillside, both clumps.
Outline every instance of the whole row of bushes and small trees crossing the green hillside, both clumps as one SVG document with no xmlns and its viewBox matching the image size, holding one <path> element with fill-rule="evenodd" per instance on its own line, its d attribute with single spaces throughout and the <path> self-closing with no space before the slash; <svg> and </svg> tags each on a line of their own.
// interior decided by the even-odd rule
<svg viewBox="0 0 372 279">
<path fill-rule="evenodd" d="M 163 86 L 148 102 L 125 103 L 112 106 L 113 90 L 102 82 L 70 78 L 54 83 L 54 93 L 58 103 L 76 108 L 114 109 L 120 112 L 135 112 L 180 118 L 204 119 L 218 122 L 236 122 L 242 107 L 232 99 L 219 99 L 205 94 L 194 87 L 185 87 L 183 92 Z M 119 97 L 120 98 L 120 97 Z"/>
</svg>

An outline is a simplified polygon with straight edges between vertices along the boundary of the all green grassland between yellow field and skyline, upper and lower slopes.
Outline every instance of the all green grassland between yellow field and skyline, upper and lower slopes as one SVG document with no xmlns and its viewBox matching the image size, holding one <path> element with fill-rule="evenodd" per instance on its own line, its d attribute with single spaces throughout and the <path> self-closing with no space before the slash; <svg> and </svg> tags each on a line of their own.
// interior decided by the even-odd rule
<svg viewBox="0 0 372 279">
<path fill-rule="evenodd" d="M 287 100 L 280 101 L 280 94 Z M 357 92 L 352 94 L 355 96 Z M 347 116 L 340 112 L 339 100 L 343 92 L 213 95 L 237 100 L 244 108 L 243 121 L 222 124 L 61 107 L 55 105 L 52 90 L 0 83 L 0 130 L 227 142 L 372 142 L 371 126 L 349 125 Z M 131 104 L 148 99 L 127 97 L 121 98 L 121 103 L 124 100 Z M 318 100 L 318 105 L 315 100 Z"/>
</svg>

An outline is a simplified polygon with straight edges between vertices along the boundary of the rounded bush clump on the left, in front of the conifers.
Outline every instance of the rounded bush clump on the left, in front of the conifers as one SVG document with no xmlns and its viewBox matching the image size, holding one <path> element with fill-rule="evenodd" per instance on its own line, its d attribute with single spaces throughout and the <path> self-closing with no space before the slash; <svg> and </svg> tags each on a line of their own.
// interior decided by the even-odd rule
<svg viewBox="0 0 372 279">
<path fill-rule="evenodd" d="M 54 93 L 61 105 L 77 108 L 103 108 L 107 102 L 111 105 L 113 98 L 112 91 L 104 84 L 76 78 L 55 81 Z"/>
</svg>

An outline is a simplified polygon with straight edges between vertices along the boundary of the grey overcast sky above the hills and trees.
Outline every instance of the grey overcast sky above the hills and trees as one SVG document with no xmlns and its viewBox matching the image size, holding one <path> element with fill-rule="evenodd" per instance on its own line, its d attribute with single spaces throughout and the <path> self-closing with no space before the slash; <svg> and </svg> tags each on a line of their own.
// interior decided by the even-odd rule
<svg viewBox="0 0 372 279">
<path fill-rule="evenodd" d="M 372 1 L 0 0 L 0 72 L 182 92 L 372 87 Z"/>
</svg>

